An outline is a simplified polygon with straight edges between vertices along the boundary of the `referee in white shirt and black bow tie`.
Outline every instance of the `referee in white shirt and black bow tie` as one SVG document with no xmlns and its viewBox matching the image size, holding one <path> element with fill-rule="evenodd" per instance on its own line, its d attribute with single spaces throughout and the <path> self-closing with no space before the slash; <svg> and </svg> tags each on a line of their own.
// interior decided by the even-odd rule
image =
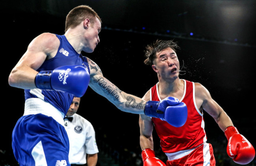
<svg viewBox="0 0 256 166">
<path fill-rule="evenodd" d="M 76 114 L 80 97 L 74 97 L 64 118 L 64 127 L 69 137 L 69 162 L 71 166 L 96 166 L 98 147 L 93 125 Z"/>
</svg>

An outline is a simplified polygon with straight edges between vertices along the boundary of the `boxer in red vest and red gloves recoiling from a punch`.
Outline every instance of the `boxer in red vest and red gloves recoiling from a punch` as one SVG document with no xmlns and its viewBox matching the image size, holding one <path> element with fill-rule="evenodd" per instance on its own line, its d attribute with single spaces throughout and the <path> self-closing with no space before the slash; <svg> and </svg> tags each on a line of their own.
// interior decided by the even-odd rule
<svg viewBox="0 0 256 166">
<path fill-rule="evenodd" d="M 187 119 L 183 126 L 177 127 L 159 118 L 140 115 L 140 144 L 144 166 L 165 166 L 153 151 L 153 127 L 160 138 L 162 151 L 168 157 L 167 166 L 215 166 L 213 148 L 206 142 L 203 110 L 223 130 L 228 139 L 228 155 L 238 164 L 248 164 L 255 156 L 252 144 L 239 134 L 230 117 L 203 85 L 179 78 L 177 48 L 175 42 L 163 40 L 157 40 L 146 47 L 145 64 L 151 65 L 157 73 L 158 83 L 148 90 L 143 99 L 161 101 L 165 97 L 176 97 L 179 102 L 186 104 Z"/>
</svg>

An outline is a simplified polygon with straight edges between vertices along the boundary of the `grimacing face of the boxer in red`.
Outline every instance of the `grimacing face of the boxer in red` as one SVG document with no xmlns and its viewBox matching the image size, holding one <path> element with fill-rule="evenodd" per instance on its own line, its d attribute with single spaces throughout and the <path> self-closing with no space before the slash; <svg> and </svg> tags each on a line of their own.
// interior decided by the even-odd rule
<svg viewBox="0 0 256 166">
<path fill-rule="evenodd" d="M 157 52 L 152 68 L 163 79 L 177 78 L 179 76 L 180 62 L 176 52 L 171 48 Z"/>
</svg>

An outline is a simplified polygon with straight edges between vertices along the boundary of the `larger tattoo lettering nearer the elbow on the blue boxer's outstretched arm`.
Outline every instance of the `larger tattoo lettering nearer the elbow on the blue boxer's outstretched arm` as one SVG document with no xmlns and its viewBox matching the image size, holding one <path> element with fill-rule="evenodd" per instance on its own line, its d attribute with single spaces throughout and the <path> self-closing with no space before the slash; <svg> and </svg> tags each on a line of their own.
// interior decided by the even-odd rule
<svg viewBox="0 0 256 166">
<path fill-rule="evenodd" d="M 103 92 L 111 96 L 114 100 L 119 99 L 119 94 L 122 91 L 119 90 L 119 88 L 117 88 L 115 85 L 108 85 L 107 81 L 102 77 L 94 79 L 93 82 L 98 83 Z"/>
</svg>

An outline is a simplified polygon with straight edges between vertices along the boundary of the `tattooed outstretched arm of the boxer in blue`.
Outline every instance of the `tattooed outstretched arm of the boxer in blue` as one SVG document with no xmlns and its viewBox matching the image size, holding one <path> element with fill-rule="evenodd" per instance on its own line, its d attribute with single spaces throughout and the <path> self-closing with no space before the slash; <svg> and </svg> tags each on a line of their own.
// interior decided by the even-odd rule
<svg viewBox="0 0 256 166">
<path fill-rule="evenodd" d="M 87 58 L 90 67 L 89 86 L 101 96 L 106 97 L 117 108 L 124 112 L 144 114 L 145 101 L 139 97 L 122 92 L 118 87 L 106 79 L 98 65 Z"/>
</svg>

